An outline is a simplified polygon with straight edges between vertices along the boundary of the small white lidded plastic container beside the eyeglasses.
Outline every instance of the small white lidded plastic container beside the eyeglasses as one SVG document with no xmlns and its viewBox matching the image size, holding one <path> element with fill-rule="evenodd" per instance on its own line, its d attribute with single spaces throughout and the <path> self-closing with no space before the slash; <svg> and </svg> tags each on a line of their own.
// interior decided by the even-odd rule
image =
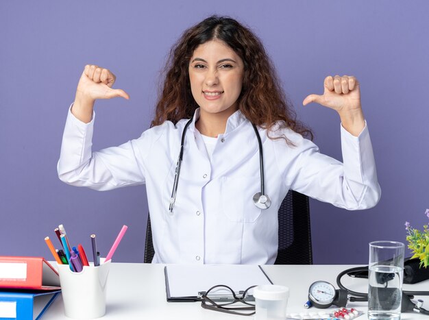
<svg viewBox="0 0 429 320">
<path fill-rule="evenodd" d="M 289 288 L 275 284 L 256 286 L 254 320 L 284 320 L 289 299 Z"/>
</svg>

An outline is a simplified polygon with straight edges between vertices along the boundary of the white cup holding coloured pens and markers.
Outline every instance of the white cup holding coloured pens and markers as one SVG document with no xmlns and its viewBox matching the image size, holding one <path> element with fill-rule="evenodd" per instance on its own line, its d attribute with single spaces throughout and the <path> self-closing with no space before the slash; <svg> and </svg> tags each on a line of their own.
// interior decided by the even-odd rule
<svg viewBox="0 0 429 320">
<path fill-rule="evenodd" d="M 81 272 L 70 270 L 69 264 L 58 264 L 64 312 L 73 319 L 94 319 L 106 313 L 106 285 L 110 260 L 100 265 L 84 267 Z"/>
</svg>

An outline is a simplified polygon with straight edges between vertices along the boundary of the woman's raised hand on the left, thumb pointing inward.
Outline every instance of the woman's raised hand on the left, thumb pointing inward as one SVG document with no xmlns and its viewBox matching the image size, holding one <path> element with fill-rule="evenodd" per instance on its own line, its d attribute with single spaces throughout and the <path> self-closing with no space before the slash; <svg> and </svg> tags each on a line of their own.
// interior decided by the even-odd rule
<svg viewBox="0 0 429 320">
<path fill-rule="evenodd" d="M 75 102 L 71 112 L 84 123 L 91 121 L 96 99 L 111 99 L 130 96 L 121 89 L 112 89 L 116 77 L 109 69 L 87 64 L 77 84 Z"/>
</svg>

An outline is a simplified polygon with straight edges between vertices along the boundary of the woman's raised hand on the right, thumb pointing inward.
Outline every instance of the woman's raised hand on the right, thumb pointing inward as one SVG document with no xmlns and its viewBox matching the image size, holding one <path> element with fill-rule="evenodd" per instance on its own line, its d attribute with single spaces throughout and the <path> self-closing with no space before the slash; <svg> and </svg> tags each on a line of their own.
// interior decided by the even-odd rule
<svg viewBox="0 0 429 320">
<path fill-rule="evenodd" d="M 302 104 L 306 106 L 310 102 L 316 102 L 336 110 L 345 130 L 358 136 L 365 127 L 358 80 L 350 75 L 329 75 L 325 78 L 323 88 L 323 95 L 308 95 Z"/>
</svg>

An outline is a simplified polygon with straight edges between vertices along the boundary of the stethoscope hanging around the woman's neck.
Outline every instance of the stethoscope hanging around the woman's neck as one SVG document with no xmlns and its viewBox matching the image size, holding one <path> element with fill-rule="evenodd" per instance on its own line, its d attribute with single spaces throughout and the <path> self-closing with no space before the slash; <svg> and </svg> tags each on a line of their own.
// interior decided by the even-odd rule
<svg viewBox="0 0 429 320">
<path fill-rule="evenodd" d="M 179 182 L 180 167 L 182 166 L 186 130 L 188 130 L 188 127 L 192 123 L 192 121 L 193 121 L 193 119 L 190 119 L 186 123 L 186 125 L 183 129 L 183 133 L 182 133 L 182 141 L 180 143 L 180 153 L 179 153 L 179 158 L 177 159 L 177 164 L 176 164 L 175 173 L 174 173 L 173 190 L 171 191 L 170 206 L 169 206 L 170 214 L 173 214 L 175 197 L 177 195 L 177 184 Z M 268 209 L 269 206 L 271 206 L 271 199 L 269 199 L 269 196 L 265 194 L 264 156 L 262 155 L 262 143 L 260 141 L 260 135 L 259 135 L 258 129 L 256 129 L 256 125 L 254 125 L 252 123 L 252 127 L 255 130 L 256 138 L 258 138 L 259 169 L 260 169 L 260 192 L 255 193 L 255 195 L 253 197 L 253 201 L 254 201 L 254 204 L 256 207 L 258 207 L 260 209 Z"/>
</svg>

